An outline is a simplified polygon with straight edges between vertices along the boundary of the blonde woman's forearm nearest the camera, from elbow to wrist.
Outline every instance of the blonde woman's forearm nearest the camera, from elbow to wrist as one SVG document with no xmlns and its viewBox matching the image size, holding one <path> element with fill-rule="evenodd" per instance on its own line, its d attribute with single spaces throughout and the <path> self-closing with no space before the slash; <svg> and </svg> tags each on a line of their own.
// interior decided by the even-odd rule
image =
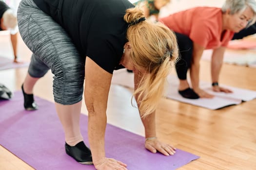
<svg viewBox="0 0 256 170">
<path fill-rule="evenodd" d="M 88 137 L 94 162 L 105 158 L 106 114 L 88 112 Z"/>
</svg>

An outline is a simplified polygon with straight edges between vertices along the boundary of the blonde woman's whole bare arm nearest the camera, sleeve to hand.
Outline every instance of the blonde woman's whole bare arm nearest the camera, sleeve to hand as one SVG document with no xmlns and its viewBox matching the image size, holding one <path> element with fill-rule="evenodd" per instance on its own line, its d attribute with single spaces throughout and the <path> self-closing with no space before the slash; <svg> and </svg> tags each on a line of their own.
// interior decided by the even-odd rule
<svg viewBox="0 0 256 170">
<path fill-rule="evenodd" d="M 88 110 L 88 137 L 97 170 L 113 170 L 126 165 L 105 157 L 106 109 L 112 74 L 86 57 L 84 99 Z"/>
</svg>

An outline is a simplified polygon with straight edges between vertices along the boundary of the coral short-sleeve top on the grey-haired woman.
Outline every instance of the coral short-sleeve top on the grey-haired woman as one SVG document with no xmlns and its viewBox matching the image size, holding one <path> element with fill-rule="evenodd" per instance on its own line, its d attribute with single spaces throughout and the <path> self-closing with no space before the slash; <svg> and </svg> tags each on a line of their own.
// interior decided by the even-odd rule
<svg viewBox="0 0 256 170">
<path fill-rule="evenodd" d="M 174 32 L 185 34 L 205 49 L 226 47 L 234 32 L 222 34 L 222 11 L 215 7 L 196 7 L 160 18 Z M 222 38 L 221 38 L 222 37 Z"/>
</svg>

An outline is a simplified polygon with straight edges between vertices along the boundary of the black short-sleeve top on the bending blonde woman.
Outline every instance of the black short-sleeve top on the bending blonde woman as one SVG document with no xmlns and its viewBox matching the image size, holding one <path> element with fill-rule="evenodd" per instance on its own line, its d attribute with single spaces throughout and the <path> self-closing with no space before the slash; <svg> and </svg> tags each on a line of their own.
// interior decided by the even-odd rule
<svg viewBox="0 0 256 170">
<path fill-rule="evenodd" d="M 34 0 L 69 34 L 82 57 L 88 56 L 109 73 L 120 67 L 127 42 L 128 0 Z"/>
</svg>

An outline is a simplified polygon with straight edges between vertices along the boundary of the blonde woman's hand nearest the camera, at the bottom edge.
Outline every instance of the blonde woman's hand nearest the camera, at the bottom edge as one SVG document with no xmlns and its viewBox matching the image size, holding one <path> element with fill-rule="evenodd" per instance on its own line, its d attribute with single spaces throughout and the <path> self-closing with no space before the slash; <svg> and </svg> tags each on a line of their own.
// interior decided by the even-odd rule
<svg viewBox="0 0 256 170">
<path fill-rule="evenodd" d="M 97 170 L 127 170 L 127 165 L 112 158 L 104 158 L 94 162 Z"/>
</svg>

